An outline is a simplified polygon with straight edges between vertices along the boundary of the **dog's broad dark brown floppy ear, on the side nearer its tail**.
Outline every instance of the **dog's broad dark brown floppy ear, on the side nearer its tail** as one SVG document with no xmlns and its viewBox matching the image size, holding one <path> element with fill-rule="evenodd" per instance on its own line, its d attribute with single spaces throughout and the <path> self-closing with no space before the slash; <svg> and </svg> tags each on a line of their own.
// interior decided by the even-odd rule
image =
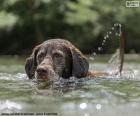
<svg viewBox="0 0 140 116">
<path fill-rule="evenodd" d="M 86 57 L 74 46 L 70 50 L 72 54 L 72 76 L 77 78 L 87 76 L 89 63 Z"/>
</svg>

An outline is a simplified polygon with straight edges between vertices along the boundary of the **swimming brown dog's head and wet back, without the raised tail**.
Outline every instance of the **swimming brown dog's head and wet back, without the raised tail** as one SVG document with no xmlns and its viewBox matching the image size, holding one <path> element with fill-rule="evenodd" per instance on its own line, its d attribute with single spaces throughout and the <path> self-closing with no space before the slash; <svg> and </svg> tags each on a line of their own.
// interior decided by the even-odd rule
<svg viewBox="0 0 140 116">
<path fill-rule="evenodd" d="M 26 59 L 25 71 L 29 79 L 57 80 L 108 76 L 107 72 L 90 72 L 89 62 L 82 52 L 71 42 L 50 39 L 36 46 Z"/>
</svg>

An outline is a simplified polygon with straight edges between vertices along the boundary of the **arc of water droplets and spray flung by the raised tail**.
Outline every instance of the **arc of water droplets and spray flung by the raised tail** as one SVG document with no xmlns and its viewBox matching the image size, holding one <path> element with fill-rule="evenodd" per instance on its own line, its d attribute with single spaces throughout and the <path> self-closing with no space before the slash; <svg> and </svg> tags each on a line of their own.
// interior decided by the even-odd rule
<svg viewBox="0 0 140 116">
<path fill-rule="evenodd" d="M 108 67 L 109 69 L 113 69 L 113 71 L 118 71 L 121 73 L 123 68 L 123 54 L 124 54 L 124 40 L 122 38 L 122 25 L 119 23 L 114 24 L 111 29 L 106 32 L 101 45 L 99 45 L 98 52 L 101 52 L 104 50 L 104 46 L 106 42 L 109 39 L 112 38 L 119 38 L 120 46 L 119 49 L 116 50 L 116 52 L 112 55 L 112 57 L 108 61 Z M 90 57 L 90 60 L 95 60 L 97 56 L 96 52 L 93 52 L 92 57 Z"/>
</svg>

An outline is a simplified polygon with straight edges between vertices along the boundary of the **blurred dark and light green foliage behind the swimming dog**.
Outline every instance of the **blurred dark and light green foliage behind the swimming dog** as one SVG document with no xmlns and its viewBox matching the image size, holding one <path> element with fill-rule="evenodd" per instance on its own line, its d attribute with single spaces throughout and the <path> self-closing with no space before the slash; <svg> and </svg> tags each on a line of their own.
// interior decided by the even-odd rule
<svg viewBox="0 0 140 116">
<path fill-rule="evenodd" d="M 122 0 L 0 0 L 0 54 L 28 54 L 50 38 L 64 38 L 84 53 L 97 52 L 114 23 L 123 25 L 125 52 L 140 52 L 140 7 Z M 108 40 L 100 53 L 116 49 Z"/>
</svg>

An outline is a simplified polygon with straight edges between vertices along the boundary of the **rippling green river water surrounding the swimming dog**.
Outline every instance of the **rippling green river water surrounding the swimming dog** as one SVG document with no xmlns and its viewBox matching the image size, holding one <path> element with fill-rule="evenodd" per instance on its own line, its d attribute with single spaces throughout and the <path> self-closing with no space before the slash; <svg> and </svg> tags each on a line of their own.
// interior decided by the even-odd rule
<svg viewBox="0 0 140 116">
<path fill-rule="evenodd" d="M 34 115 L 57 113 L 57 116 L 140 115 L 139 63 L 125 63 L 121 77 L 94 78 L 81 86 L 37 90 L 34 82 L 28 80 L 24 72 L 24 59 L 1 58 L 0 62 L 1 114 L 21 112 Z M 105 63 L 90 65 L 91 70 L 107 68 Z"/>
</svg>

